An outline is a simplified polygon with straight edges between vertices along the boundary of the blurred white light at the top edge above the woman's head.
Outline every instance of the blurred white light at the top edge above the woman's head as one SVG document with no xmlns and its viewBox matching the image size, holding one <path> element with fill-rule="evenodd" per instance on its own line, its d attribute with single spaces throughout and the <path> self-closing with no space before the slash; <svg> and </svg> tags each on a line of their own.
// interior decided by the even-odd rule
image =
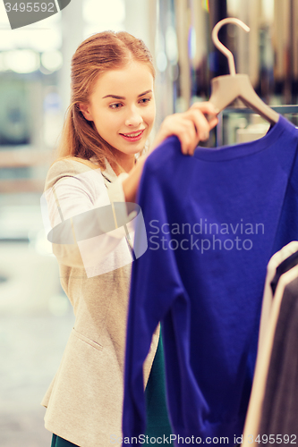
<svg viewBox="0 0 298 447">
<path fill-rule="evenodd" d="M 89 23 L 121 23 L 125 20 L 123 0 L 84 0 L 83 17 Z"/>
</svg>

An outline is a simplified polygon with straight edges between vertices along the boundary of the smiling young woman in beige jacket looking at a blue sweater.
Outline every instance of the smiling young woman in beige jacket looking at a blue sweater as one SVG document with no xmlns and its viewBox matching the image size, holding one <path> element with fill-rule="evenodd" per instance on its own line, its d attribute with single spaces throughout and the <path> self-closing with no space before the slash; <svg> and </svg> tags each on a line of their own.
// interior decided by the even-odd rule
<svg viewBox="0 0 298 447">
<path fill-rule="evenodd" d="M 97 226 L 92 213 L 102 207 L 108 213 L 111 204 L 136 199 L 147 156 L 168 136 L 176 135 L 183 154 L 192 155 L 217 124 L 213 105 L 192 105 L 186 113 L 165 119 L 146 153 L 156 114 L 154 77 L 148 48 L 126 32 L 91 36 L 72 57 L 72 104 L 44 196 L 55 229 L 53 251 L 61 283 L 76 317 L 42 402 L 55 447 L 106 446 L 121 436 L 132 257 L 120 229 L 98 234 L 98 226 L 108 219 Z M 76 216 L 84 216 L 80 229 Z M 145 386 L 158 337 L 157 328 L 144 364 Z"/>
</svg>

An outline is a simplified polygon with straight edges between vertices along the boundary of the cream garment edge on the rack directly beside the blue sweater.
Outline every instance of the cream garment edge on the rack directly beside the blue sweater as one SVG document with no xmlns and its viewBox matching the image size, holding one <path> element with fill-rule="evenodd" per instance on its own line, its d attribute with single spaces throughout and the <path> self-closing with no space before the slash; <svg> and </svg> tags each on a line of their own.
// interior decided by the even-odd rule
<svg viewBox="0 0 298 447">
<path fill-rule="evenodd" d="M 298 241 L 294 240 L 283 247 L 283 249 L 277 251 L 277 253 L 273 257 L 271 257 L 268 263 L 262 303 L 262 312 L 260 318 L 258 358 L 253 378 L 249 409 L 247 412 L 243 430 L 244 446 L 248 446 L 249 444 L 251 445 L 252 441 L 257 438 L 258 434 L 260 434 L 259 426 L 262 413 L 262 402 L 264 400 L 265 387 L 268 376 L 268 365 L 276 325 L 275 320 L 272 320 L 274 294 L 272 291 L 271 283 L 273 282 L 274 278 L 276 278 L 275 283 L 277 283 L 277 270 L 279 273 L 285 273 L 284 270 L 287 266 L 293 267 L 294 262 L 295 264 L 297 264 L 297 250 Z M 281 276 L 279 275 L 278 280 L 280 279 L 280 277 Z M 270 335 L 268 335 L 268 333 L 270 333 Z"/>
</svg>

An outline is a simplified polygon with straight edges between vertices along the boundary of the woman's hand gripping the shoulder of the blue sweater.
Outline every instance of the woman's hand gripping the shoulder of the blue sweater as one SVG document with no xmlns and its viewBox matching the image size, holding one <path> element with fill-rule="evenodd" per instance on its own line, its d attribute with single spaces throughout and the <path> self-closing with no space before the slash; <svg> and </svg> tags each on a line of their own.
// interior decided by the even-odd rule
<svg viewBox="0 0 298 447">
<path fill-rule="evenodd" d="M 171 114 L 162 122 L 152 149 L 171 135 L 176 135 L 181 142 L 181 149 L 185 155 L 193 155 L 199 141 L 209 139 L 209 131 L 217 125 L 219 111 L 209 102 L 194 103 L 183 114 Z M 207 120 L 206 115 L 209 116 Z"/>
</svg>

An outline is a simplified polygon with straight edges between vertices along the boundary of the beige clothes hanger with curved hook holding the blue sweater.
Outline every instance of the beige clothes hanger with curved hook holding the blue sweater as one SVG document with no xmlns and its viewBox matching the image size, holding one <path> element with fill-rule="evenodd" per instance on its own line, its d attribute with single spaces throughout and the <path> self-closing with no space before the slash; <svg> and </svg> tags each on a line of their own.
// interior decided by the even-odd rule
<svg viewBox="0 0 298 447">
<path fill-rule="evenodd" d="M 229 63 L 230 74 L 218 76 L 211 80 L 211 97 L 209 101 L 219 110 L 223 110 L 239 97 L 243 103 L 260 114 L 271 124 L 275 124 L 279 119 L 279 114 L 266 105 L 254 91 L 251 80 L 247 74 L 236 74 L 234 66 L 234 56 L 218 39 L 218 31 L 226 23 L 234 23 L 248 32 L 250 28 L 239 19 L 228 18 L 218 21 L 212 30 L 212 40 L 218 50 L 226 55 Z"/>
</svg>

